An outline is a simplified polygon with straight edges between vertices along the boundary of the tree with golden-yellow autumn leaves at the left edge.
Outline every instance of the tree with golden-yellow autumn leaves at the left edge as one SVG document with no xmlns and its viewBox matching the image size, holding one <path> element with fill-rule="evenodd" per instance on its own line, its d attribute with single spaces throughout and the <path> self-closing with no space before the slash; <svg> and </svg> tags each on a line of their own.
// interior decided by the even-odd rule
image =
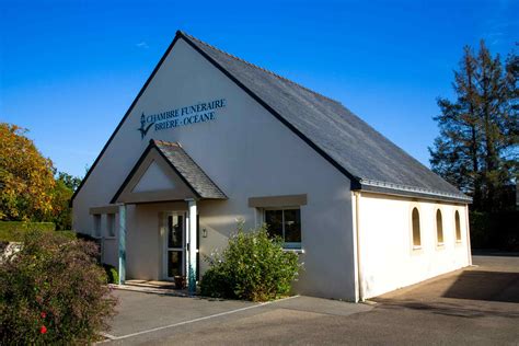
<svg viewBox="0 0 519 346">
<path fill-rule="evenodd" d="M 26 132 L 0 123 L 0 220 L 42 220 L 53 211 L 53 162 Z"/>
</svg>

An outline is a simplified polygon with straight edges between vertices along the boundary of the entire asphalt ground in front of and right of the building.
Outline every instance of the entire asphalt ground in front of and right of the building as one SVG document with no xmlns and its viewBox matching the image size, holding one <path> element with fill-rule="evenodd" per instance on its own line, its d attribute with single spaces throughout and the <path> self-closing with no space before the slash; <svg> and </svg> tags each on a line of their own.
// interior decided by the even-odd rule
<svg viewBox="0 0 519 346">
<path fill-rule="evenodd" d="M 519 257 L 474 267 L 369 304 L 293 297 L 266 304 L 117 290 L 114 344 L 519 345 Z"/>
</svg>

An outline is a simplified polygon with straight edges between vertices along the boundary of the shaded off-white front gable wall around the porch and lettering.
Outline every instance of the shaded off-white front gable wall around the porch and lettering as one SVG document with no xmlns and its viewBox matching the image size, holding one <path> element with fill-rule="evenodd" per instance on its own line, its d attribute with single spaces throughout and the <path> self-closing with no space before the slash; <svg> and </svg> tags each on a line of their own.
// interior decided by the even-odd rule
<svg viewBox="0 0 519 346">
<path fill-rule="evenodd" d="M 212 122 L 154 132 L 143 140 L 140 115 L 226 99 Z M 349 181 L 267 113 L 222 72 L 180 39 L 74 199 L 74 228 L 90 233 L 90 207 L 104 206 L 150 138 L 178 141 L 228 195 L 199 204 L 201 253 L 224 246 L 237 218 L 255 222 L 249 197 L 307 194 L 301 207 L 304 270 L 297 291 L 354 300 L 354 241 Z M 128 209 L 128 277 L 158 278 L 159 212 L 165 205 Z M 169 208 L 169 207 L 168 207 Z M 204 267 L 204 265 L 203 265 Z"/>
</svg>

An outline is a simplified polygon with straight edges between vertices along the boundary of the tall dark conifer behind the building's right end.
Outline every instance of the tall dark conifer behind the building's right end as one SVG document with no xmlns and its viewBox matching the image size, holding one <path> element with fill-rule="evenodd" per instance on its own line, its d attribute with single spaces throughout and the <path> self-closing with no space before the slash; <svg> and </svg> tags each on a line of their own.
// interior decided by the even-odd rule
<svg viewBox="0 0 519 346">
<path fill-rule="evenodd" d="M 454 71 L 455 100 L 438 99 L 440 136 L 429 148 L 432 170 L 472 195 L 477 210 L 505 208 L 517 176 L 517 56 L 510 54 L 504 67 L 482 41 L 477 53 L 464 48 Z"/>
</svg>

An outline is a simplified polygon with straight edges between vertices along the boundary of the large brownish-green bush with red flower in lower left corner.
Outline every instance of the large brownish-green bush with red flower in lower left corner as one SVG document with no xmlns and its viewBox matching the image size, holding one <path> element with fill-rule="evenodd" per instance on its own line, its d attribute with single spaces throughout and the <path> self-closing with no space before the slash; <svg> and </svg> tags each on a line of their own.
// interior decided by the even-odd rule
<svg viewBox="0 0 519 346">
<path fill-rule="evenodd" d="M 0 344 L 86 344 L 113 315 L 97 247 L 31 231 L 0 265 Z"/>
</svg>

